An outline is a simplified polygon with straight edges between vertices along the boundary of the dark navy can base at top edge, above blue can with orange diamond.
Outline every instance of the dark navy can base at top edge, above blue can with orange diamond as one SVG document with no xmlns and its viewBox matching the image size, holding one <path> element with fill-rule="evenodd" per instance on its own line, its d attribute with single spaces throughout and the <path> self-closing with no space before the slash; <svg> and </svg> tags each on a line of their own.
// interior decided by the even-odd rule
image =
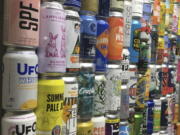
<svg viewBox="0 0 180 135">
<path fill-rule="evenodd" d="M 99 15 L 109 16 L 110 0 L 99 0 Z"/>
</svg>

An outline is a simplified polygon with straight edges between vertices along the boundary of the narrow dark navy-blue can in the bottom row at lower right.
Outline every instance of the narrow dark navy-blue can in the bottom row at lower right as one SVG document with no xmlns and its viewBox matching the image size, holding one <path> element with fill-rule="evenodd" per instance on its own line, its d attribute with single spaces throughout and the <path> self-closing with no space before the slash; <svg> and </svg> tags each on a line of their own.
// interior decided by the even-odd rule
<svg viewBox="0 0 180 135">
<path fill-rule="evenodd" d="M 147 134 L 153 133 L 153 109 L 154 109 L 154 102 L 153 100 L 147 101 L 147 111 L 146 111 L 146 118 L 147 118 Z"/>
</svg>

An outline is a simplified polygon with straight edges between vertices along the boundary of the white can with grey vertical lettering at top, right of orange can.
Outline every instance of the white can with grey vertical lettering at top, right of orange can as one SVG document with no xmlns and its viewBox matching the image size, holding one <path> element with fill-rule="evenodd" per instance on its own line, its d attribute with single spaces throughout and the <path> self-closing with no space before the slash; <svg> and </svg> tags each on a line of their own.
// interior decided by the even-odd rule
<svg viewBox="0 0 180 135">
<path fill-rule="evenodd" d="M 124 47 L 130 47 L 131 44 L 131 23 L 132 23 L 132 2 L 124 0 Z"/>
</svg>

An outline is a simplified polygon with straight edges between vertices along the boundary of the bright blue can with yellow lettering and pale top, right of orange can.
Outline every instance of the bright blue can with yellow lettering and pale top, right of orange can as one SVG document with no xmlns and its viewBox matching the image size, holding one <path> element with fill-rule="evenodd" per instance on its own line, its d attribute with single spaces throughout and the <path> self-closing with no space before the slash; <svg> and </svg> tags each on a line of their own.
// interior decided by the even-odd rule
<svg viewBox="0 0 180 135">
<path fill-rule="evenodd" d="M 138 64 L 139 61 L 140 33 L 141 33 L 140 18 L 134 18 L 132 20 L 131 45 L 129 47 L 131 64 Z"/>
</svg>

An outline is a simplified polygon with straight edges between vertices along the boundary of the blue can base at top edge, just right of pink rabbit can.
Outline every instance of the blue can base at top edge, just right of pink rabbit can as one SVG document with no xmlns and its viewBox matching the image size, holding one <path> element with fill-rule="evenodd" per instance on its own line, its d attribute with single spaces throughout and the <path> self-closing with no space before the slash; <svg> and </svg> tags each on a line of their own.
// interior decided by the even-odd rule
<svg viewBox="0 0 180 135">
<path fill-rule="evenodd" d="M 80 10 L 81 0 L 65 0 L 64 5 L 68 7 L 75 7 Z"/>
</svg>

